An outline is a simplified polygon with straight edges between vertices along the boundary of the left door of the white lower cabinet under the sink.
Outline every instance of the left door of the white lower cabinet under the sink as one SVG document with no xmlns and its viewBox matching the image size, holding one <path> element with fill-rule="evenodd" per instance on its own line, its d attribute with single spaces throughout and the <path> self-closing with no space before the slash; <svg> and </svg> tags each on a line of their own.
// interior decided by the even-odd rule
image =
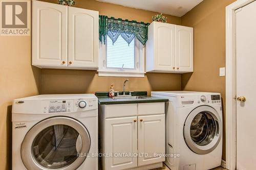
<svg viewBox="0 0 256 170">
<path fill-rule="evenodd" d="M 137 116 L 119 117 L 105 119 L 105 141 L 106 153 L 113 157 L 105 157 L 105 170 L 118 170 L 137 167 Z M 118 154 L 118 155 L 116 155 Z"/>
</svg>

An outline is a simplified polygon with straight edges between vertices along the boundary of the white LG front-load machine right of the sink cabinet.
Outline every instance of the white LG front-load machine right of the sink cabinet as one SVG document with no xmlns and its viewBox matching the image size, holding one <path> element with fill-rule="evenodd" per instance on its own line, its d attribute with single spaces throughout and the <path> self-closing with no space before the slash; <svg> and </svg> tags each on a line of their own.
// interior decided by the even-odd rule
<svg viewBox="0 0 256 170">
<path fill-rule="evenodd" d="M 166 161 L 172 170 L 207 170 L 221 165 L 222 104 L 220 93 L 159 91 L 167 98 Z"/>
</svg>

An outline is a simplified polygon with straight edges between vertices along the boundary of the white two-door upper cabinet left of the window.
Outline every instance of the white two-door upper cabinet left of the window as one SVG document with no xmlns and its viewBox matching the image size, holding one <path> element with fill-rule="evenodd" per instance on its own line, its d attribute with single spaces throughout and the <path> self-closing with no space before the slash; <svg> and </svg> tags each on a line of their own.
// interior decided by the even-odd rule
<svg viewBox="0 0 256 170">
<path fill-rule="evenodd" d="M 97 69 L 98 11 L 33 1 L 32 65 Z"/>
</svg>

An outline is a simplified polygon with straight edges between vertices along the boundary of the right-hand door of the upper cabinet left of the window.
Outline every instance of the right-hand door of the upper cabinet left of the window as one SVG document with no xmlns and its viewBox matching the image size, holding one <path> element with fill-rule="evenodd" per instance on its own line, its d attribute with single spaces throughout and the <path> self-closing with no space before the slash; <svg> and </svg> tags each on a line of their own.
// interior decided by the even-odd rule
<svg viewBox="0 0 256 170">
<path fill-rule="evenodd" d="M 69 66 L 98 67 L 99 12 L 69 7 Z"/>
</svg>

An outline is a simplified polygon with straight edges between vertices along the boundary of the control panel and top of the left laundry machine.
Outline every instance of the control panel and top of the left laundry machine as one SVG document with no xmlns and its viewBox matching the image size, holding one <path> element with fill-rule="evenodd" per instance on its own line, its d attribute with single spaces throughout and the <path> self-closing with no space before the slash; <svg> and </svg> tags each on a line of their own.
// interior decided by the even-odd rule
<svg viewBox="0 0 256 170">
<path fill-rule="evenodd" d="M 15 99 L 12 113 L 70 114 L 96 109 L 98 109 L 98 98 L 94 94 L 43 94 Z"/>
</svg>

